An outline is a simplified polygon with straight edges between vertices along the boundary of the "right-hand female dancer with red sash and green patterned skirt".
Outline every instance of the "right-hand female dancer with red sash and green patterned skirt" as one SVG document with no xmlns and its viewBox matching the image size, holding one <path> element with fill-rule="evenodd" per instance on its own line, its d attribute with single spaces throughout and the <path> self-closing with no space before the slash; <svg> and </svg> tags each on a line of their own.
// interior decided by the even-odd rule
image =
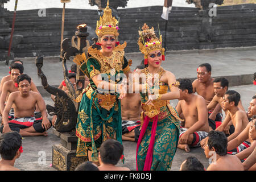
<svg viewBox="0 0 256 182">
<path fill-rule="evenodd" d="M 147 79 L 140 86 L 143 112 L 137 143 L 137 170 L 168 170 L 176 152 L 181 120 L 169 100 L 179 98 L 179 82 L 173 73 L 161 67 L 164 60 L 162 35 L 158 39 L 154 28 L 149 29 L 146 23 L 142 30 L 139 31 L 138 44 L 148 67 L 137 72 L 145 74 Z M 152 77 L 154 84 L 150 84 Z"/>
</svg>

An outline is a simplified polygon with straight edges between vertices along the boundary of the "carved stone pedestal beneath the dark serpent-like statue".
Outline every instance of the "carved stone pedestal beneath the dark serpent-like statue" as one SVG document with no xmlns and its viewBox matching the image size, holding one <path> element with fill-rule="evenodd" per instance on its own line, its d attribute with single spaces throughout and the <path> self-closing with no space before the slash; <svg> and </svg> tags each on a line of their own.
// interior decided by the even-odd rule
<svg viewBox="0 0 256 182">
<path fill-rule="evenodd" d="M 54 134 L 60 137 L 60 144 L 52 146 L 52 167 L 59 171 L 73 171 L 75 168 L 88 161 L 86 157 L 76 157 L 77 137 L 75 133 Z"/>
</svg>

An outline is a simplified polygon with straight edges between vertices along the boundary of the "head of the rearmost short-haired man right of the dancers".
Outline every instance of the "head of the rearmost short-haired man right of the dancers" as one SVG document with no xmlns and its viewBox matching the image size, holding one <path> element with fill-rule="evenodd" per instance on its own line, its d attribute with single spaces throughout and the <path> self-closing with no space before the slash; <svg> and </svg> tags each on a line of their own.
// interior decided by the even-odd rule
<svg viewBox="0 0 256 182">
<path fill-rule="evenodd" d="M 197 68 L 197 78 L 200 83 L 205 83 L 212 75 L 212 67 L 209 63 L 200 64 Z"/>
</svg>

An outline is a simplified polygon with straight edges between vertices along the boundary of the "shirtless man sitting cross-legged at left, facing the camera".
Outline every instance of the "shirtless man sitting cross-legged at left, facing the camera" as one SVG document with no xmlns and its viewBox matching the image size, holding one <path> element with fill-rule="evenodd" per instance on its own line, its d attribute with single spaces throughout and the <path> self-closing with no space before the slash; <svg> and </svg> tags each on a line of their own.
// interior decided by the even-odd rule
<svg viewBox="0 0 256 182">
<path fill-rule="evenodd" d="M 51 127 L 51 122 L 47 119 L 46 104 L 42 96 L 31 91 L 31 78 L 26 74 L 17 78 L 18 92 L 12 92 L 8 98 L 5 109 L 3 110 L 3 125 L 1 133 L 11 130 L 18 131 L 22 136 L 47 136 L 46 130 Z M 34 115 L 35 105 L 42 113 L 42 118 L 36 119 Z M 8 118 L 9 110 L 14 105 L 13 118 Z"/>
</svg>

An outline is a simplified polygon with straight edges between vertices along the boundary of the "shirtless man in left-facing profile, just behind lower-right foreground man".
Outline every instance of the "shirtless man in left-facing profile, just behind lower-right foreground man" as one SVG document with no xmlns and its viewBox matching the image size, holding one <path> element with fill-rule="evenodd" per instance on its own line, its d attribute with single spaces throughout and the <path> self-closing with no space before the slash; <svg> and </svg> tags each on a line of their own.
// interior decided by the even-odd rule
<svg viewBox="0 0 256 182">
<path fill-rule="evenodd" d="M 216 131 L 224 131 L 231 119 L 235 130 L 233 134 L 229 135 L 228 142 L 236 138 L 249 123 L 246 112 L 238 107 L 239 101 L 240 94 L 234 90 L 228 90 L 222 101 L 222 108 L 227 110 L 228 113 L 221 125 L 217 127 Z M 205 140 L 206 139 L 201 141 L 201 147 L 204 147 Z"/>
</svg>

